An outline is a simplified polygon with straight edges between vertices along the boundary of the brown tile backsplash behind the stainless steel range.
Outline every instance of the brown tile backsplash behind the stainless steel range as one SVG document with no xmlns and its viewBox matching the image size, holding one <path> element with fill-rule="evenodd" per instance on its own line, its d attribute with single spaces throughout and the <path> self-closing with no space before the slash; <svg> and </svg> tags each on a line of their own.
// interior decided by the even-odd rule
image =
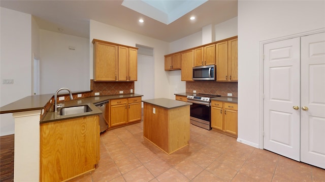
<svg viewBox="0 0 325 182">
<path fill-rule="evenodd" d="M 238 97 L 238 82 L 216 82 L 216 81 L 186 81 L 186 93 L 193 93 L 197 90 L 197 94 L 212 94 L 228 97 L 228 93 Z"/>
</svg>

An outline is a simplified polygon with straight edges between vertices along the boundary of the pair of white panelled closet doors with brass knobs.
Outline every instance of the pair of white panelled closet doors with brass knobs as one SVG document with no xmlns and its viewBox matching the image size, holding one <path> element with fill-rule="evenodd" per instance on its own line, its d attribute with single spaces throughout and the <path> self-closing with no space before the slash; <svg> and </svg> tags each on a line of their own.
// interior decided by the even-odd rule
<svg viewBox="0 0 325 182">
<path fill-rule="evenodd" d="M 325 168 L 325 33 L 264 45 L 264 149 Z"/>
</svg>

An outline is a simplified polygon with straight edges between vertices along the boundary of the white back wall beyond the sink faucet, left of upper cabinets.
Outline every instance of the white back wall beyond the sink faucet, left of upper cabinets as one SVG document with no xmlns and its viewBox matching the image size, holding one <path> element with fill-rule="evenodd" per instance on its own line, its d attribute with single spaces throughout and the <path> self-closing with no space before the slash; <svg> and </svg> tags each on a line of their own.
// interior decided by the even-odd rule
<svg viewBox="0 0 325 182">
<path fill-rule="evenodd" d="M 70 50 L 74 47 L 75 50 Z M 89 39 L 40 30 L 41 94 L 89 90 Z"/>
</svg>

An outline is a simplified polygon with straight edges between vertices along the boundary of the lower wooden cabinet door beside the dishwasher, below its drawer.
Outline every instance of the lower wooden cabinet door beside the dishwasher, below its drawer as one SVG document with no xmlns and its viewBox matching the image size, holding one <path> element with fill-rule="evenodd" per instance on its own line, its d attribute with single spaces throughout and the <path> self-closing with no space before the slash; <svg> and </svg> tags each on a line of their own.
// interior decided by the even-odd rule
<svg viewBox="0 0 325 182">
<path fill-rule="evenodd" d="M 127 121 L 126 104 L 111 106 L 111 126 L 124 124 Z"/>
</svg>

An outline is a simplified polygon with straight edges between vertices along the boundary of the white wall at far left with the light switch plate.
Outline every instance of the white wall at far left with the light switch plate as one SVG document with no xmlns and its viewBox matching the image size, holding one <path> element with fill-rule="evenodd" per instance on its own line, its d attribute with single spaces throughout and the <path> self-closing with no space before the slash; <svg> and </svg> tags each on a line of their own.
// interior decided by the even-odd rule
<svg viewBox="0 0 325 182">
<path fill-rule="evenodd" d="M 0 11 L 0 105 L 5 106 L 31 94 L 31 15 Z M 14 79 L 14 84 L 2 84 L 3 79 Z M 0 135 L 14 133 L 12 114 L 1 114 L 0 125 Z"/>
</svg>

